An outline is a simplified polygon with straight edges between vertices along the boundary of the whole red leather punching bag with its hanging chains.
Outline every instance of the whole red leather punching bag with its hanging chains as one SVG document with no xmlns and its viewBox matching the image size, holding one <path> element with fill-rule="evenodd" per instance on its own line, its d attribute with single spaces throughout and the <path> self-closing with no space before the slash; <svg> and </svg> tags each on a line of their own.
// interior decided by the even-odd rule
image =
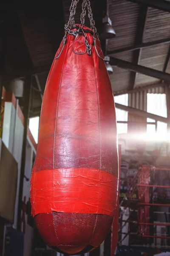
<svg viewBox="0 0 170 256">
<path fill-rule="evenodd" d="M 118 153 L 113 93 L 89 0 L 71 4 L 42 101 L 31 207 L 49 247 L 82 254 L 98 247 L 115 215 Z M 88 7 L 91 29 L 84 26 Z M 114 235 L 114 234 L 113 234 Z"/>
</svg>

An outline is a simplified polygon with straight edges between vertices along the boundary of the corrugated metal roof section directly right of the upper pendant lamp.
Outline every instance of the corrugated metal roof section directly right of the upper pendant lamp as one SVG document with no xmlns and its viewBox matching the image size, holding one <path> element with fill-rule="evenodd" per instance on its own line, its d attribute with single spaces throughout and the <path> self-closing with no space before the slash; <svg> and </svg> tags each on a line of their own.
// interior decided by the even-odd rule
<svg viewBox="0 0 170 256">
<path fill-rule="evenodd" d="M 134 45 L 140 6 L 125 0 L 110 0 L 109 3 L 109 17 L 116 38 L 109 40 L 108 50 Z"/>
</svg>

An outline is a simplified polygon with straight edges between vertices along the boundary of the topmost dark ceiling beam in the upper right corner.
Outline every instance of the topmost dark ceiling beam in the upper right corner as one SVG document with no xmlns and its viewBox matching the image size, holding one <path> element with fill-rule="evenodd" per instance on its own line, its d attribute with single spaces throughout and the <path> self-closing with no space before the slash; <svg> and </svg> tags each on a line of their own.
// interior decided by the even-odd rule
<svg viewBox="0 0 170 256">
<path fill-rule="evenodd" d="M 148 7 L 159 9 L 164 12 L 170 12 L 170 2 L 166 0 L 126 0 L 133 3 L 145 4 Z"/>
</svg>

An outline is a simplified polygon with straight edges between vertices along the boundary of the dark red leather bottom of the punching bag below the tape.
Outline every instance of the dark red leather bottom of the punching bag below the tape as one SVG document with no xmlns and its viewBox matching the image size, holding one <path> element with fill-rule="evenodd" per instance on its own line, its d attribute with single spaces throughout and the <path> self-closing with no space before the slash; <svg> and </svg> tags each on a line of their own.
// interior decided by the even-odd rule
<svg viewBox="0 0 170 256">
<path fill-rule="evenodd" d="M 68 212 L 40 213 L 34 219 L 48 246 L 70 254 L 79 253 L 89 244 L 98 247 L 113 221 L 108 215 Z"/>
</svg>

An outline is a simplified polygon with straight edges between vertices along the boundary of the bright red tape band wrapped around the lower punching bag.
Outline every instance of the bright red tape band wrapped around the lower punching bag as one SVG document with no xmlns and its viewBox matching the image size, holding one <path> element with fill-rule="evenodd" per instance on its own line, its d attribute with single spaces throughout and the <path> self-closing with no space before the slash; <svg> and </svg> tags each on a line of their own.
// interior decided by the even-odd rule
<svg viewBox="0 0 170 256">
<path fill-rule="evenodd" d="M 114 216 L 118 179 L 99 169 L 33 169 L 30 193 L 33 216 L 47 212 Z"/>
</svg>

